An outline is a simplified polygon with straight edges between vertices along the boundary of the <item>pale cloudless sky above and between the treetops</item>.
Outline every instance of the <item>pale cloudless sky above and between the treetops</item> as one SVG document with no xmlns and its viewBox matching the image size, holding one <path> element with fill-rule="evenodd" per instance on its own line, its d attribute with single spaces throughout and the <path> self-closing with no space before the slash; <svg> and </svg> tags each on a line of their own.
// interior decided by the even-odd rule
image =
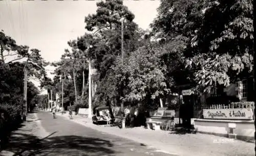
<svg viewBox="0 0 256 156">
<path fill-rule="evenodd" d="M 17 44 L 37 48 L 46 61 L 58 61 L 68 48 L 67 42 L 82 36 L 84 17 L 96 13 L 99 1 L 0 1 L 0 30 Z M 123 1 L 135 14 L 142 29 L 157 16 L 160 1 Z M 47 67 L 48 73 L 53 70 Z M 50 74 L 50 73 L 49 73 Z M 52 75 L 50 75 L 52 77 Z"/>
</svg>

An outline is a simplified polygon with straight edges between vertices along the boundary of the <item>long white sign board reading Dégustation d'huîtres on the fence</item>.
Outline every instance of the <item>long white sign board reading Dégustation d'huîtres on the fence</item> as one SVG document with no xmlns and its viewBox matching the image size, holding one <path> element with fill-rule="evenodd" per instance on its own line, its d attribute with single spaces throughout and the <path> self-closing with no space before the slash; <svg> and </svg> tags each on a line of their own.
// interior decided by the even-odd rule
<svg viewBox="0 0 256 156">
<path fill-rule="evenodd" d="M 204 119 L 252 120 L 252 109 L 203 109 Z"/>
</svg>

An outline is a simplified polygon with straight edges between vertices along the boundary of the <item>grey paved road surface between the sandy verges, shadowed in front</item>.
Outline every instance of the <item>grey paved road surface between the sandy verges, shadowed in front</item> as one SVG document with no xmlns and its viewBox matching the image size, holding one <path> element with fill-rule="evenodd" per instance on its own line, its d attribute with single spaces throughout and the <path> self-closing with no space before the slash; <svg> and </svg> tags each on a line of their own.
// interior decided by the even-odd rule
<svg viewBox="0 0 256 156">
<path fill-rule="evenodd" d="M 162 155 L 174 156 L 157 151 L 131 140 L 104 134 L 50 113 L 38 112 L 41 125 L 52 135 L 35 143 L 30 155 Z M 176 155 L 177 156 L 177 155 Z"/>
</svg>

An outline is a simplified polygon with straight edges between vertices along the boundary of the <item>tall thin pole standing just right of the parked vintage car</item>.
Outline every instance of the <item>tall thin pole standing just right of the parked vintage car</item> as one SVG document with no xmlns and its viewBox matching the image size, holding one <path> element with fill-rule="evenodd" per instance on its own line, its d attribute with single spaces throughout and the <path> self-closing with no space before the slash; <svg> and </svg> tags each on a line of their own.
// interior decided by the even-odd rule
<svg viewBox="0 0 256 156">
<path fill-rule="evenodd" d="M 123 55 L 124 55 L 124 51 L 123 51 L 123 20 L 124 18 L 121 18 L 121 58 L 122 58 L 122 64 L 123 64 Z M 122 92 L 122 96 L 123 95 L 123 87 L 121 88 L 121 92 Z M 125 128 L 125 119 L 123 117 L 123 99 L 121 101 L 121 119 L 122 119 L 122 128 Z"/>
</svg>

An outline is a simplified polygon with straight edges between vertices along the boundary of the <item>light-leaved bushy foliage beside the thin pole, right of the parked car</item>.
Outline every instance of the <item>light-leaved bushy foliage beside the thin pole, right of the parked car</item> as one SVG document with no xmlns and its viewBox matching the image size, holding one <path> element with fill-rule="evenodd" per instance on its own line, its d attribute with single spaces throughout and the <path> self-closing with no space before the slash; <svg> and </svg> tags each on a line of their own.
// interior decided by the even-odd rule
<svg viewBox="0 0 256 156">
<path fill-rule="evenodd" d="M 119 92 L 118 87 L 123 86 L 124 101 L 148 103 L 169 92 L 159 66 L 160 59 L 152 48 L 139 48 L 123 63 L 117 60 L 117 65 L 113 67 L 115 76 L 112 81 L 117 83 L 116 90 Z"/>
</svg>

